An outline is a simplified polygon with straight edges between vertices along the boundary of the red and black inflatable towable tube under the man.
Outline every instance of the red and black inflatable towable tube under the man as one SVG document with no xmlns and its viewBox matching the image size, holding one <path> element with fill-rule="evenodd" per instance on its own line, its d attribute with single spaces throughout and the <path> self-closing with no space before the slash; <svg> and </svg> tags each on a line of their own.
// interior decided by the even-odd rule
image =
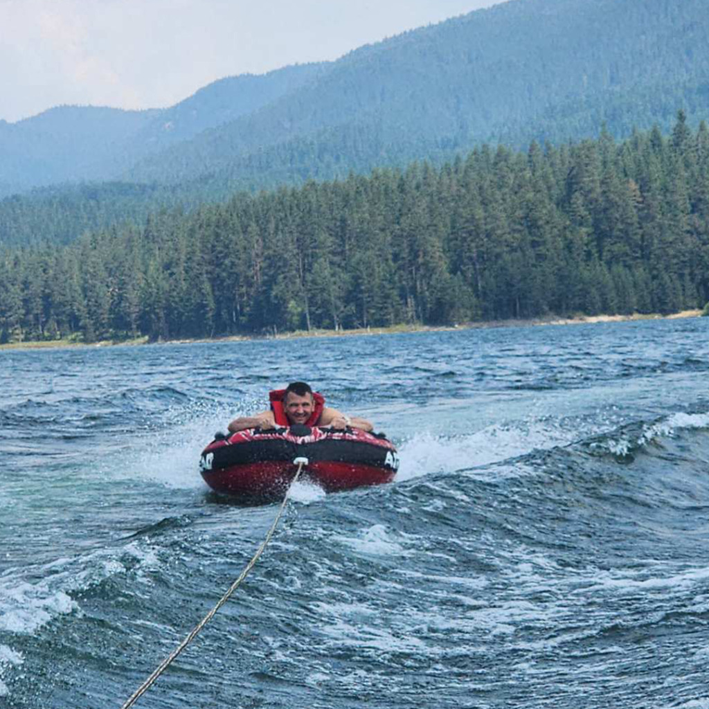
<svg viewBox="0 0 709 709">
<path fill-rule="evenodd" d="M 293 425 L 218 436 L 203 450 L 199 469 L 216 492 L 267 498 L 284 494 L 296 473 L 296 457 L 308 459 L 303 476 L 327 492 L 391 482 L 399 464 L 384 435 Z"/>
</svg>

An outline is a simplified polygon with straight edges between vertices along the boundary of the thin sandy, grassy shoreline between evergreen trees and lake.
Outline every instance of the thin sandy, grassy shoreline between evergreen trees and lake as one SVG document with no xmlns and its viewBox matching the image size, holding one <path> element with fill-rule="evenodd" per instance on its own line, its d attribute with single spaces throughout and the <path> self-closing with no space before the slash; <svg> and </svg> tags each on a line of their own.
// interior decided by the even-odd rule
<svg viewBox="0 0 709 709">
<path fill-rule="evenodd" d="M 700 309 L 661 315 L 632 313 L 632 315 L 598 315 L 559 318 L 547 316 L 527 320 L 486 320 L 484 322 L 460 323 L 459 325 L 392 325 L 382 328 L 357 328 L 354 330 L 294 330 L 291 333 L 276 335 L 227 335 L 225 337 L 199 337 L 191 339 L 157 340 L 150 342 L 147 335 L 134 340 L 100 340 L 98 342 L 78 342 L 72 340 L 27 340 L 25 342 L 7 342 L 0 345 L 3 350 L 67 350 L 77 347 L 139 347 L 142 345 L 192 345 L 198 342 L 252 342 L 255 340 L 292 340 L 301 337 L 352 337 L 352 335 L 398 335 L 402 333 L 445 333 L 455 330 L 474 330 L 485 328 L 535 328 L 547 325 L 588 325 L 596 323 L 625 323 L 635 320 L 678 320 L 698 318 Z"/>
</svg>

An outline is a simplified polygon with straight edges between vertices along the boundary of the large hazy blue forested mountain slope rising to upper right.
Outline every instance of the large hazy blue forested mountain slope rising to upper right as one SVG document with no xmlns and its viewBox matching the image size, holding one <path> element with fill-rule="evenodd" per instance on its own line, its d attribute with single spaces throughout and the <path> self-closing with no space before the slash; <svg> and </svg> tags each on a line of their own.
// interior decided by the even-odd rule
<svg viewBox="0 0 709 709">
<path fill-rule="evenodd" d="M 513 0 L 368 45 L 259 111 L 138 163 L 131 179 L 333 176 L 483 142 L 616 137 L 709 112 L 703 0 Z M 343 139 L 342 135 L 345 138 Z M 311 145 L 316 149 L 311 150 Z M 281 160 L 274 160 L 274 147 Z M 262 158 L 266 156 L 266 160 Z M 286 159 L 283 160 L 282 158 Z M 353 165 L 355 167 L 355 165 Z"/>
</svg>

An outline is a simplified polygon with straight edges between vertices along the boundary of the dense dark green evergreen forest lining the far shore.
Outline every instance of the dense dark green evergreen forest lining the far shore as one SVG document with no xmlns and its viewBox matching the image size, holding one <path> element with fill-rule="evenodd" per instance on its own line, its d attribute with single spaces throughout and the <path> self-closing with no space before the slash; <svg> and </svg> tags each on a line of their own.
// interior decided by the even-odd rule
<svg viewBox="0 0 709 709">
<path fill-rule="evenodd" d="M 238 194 L 0 253 L 1 340 L 211 337 L 709 300 L 709 128 Z"/>
</svg>

